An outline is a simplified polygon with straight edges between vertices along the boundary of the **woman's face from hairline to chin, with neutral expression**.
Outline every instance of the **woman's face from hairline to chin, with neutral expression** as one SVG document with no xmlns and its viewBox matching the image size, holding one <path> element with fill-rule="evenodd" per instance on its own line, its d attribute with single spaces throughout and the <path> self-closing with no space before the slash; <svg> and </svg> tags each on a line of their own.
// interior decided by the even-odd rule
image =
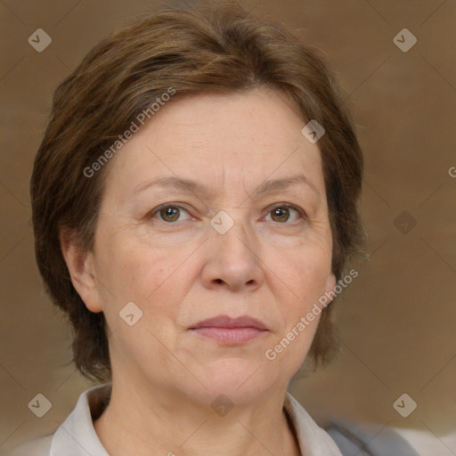
<svg viewBox="0 0 456 456">
<path fill-rule="evenodd" d="M 266 352 L 335 285 L 303 126 L 274 92 L 199 94 L 168 102 L 111 159 L 82 297 L 107 319 L 114 381 L 205 402 L 287 387 L 318 317 Z"/>
</svg>

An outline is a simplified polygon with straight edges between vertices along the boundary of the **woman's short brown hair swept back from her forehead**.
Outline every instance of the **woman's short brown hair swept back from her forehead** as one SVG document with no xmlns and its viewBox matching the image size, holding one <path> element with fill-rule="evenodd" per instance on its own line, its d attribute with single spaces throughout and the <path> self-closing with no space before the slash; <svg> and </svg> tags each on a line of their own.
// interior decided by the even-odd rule
<svg viewBox="0 0 456 456">
<path fill-rule="evenodd" d="M 148 14 L 95 45 L 57 87 L 30 184 L 37 265 L 53 302 L 68 314 L 74 361 L 89 379 L 110 380 L 106 322 L 74 289 L 60 232 L 74 233 L 83 251 L 92 248 L 109 166 L 90 178 L 84 170 L 170 87 L 174 99 L 255 87 L 286 94 L 303 126 L 315 119 L 326 130 L 318 146 L 337 280 L 362 244 L 362 151 L 322 55 L 280 25 L 250 16 L 238 2 Z M 322 311 L 307 357 L 315 367 L 330 361 L 337 347 L 332 307 Z"/>
</svg>

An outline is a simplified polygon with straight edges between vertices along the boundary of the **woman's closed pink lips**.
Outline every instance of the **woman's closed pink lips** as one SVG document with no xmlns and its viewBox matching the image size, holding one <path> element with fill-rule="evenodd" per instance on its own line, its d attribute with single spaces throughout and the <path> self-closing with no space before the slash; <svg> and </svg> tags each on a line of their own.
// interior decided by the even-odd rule
<svg viewBox="0 0 456 456">
<path fill-rule="evenodd" d="M 189 328 L 203 338 L 216 340 L 222 346 L 239 346 L 265 335 L 268 331 L 264 322 L 249 316 L 231 318 L 218 315 Z"/>
</svg>

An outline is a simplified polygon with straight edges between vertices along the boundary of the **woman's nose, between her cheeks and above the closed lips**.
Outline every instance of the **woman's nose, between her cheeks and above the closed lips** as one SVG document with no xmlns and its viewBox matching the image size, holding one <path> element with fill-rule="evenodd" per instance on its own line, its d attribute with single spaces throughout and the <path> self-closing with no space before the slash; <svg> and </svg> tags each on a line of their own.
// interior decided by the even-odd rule
<svg viewBox="0 0 456 456">
<path fill-rule="evenodd" d="M 265 281 L 258 242 L 243 224 L 234 223 L 221 234 L 210 229 L 207 262 L 202 270 L 202 281 L 208 289 L 254 291 Z"/>
</svg>

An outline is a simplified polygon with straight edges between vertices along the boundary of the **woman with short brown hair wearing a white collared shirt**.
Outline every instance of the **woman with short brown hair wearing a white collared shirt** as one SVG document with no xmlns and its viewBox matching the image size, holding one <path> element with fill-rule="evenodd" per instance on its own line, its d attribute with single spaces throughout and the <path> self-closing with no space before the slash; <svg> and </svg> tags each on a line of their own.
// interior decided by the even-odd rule
<svg viewBox="0 0 456 456">
<path fill-rule="evenodd" d="M 321 57 L 239 4 L 96 45 L 55 92 L 31 198 L 39 270 L 102 385 L 21 454 L 339 455 L 287 387 L 335 353 L 361 184 Z"/>
</svg>

